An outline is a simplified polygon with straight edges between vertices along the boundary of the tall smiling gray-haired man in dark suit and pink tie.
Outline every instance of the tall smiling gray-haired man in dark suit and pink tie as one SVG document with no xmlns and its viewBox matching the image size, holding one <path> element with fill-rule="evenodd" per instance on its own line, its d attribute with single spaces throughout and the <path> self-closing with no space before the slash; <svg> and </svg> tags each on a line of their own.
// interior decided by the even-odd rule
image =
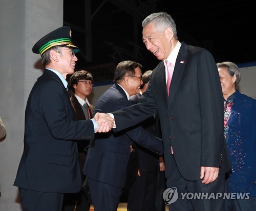
<svg viewBox="0 0 256 211">
<path fill-rule="evenodd" d="M 223 210 L 223 197 L 205 197 L 207 193 L 223 196 L 225 173 L 230 169 L 216 62 L 206 49 L 179 42 L 175 21 L 165 12 L 147 16 L 142 27 L 146 48 L 162 61 L 154 69 L 140 102 L 113 112 L 115 131 L 137 124 L 157 111 L 167 188 L 174 188 L 168 189 L 164 197 L 169 209 Z M 181 193 L 203 193 L 204 198 L 189 200 Z"/>
</svg>

